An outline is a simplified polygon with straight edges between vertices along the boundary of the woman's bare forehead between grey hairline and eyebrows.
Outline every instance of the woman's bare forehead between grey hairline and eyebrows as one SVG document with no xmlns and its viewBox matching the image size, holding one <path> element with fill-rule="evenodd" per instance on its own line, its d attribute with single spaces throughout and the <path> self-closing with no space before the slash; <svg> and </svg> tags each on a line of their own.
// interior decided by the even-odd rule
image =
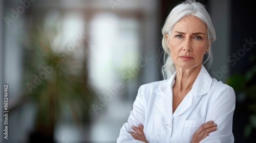
<svg viewBox="0 0 256 143">
<path fill-rule="evenodd" d="M 207 33 L 205 23 L 197 16 L 187 15 L 181 18 L 174 26 L 173 32 L 202 32 Z"/>
</svg>

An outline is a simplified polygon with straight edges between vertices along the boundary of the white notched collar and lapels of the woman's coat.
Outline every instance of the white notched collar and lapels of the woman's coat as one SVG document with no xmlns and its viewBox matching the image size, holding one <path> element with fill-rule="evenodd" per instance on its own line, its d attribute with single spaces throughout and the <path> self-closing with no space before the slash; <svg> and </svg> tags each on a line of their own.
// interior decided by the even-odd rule
<svg viewBox="0 0 256 143">
<path fill-rule="evenodd" d="M 169 118 L 175 118 L 176 116 L 185 112 L 191 105 L 196 105 L 196 102 L 199 102 L 203 94 L 206 94 L 211 86 L 212 78 L 208 74 L 205 67 L 202 65 L 200 73 L 193 84 L 191 90 L 188 92 L 186 97 L 181 102 L 180 106 L 173 113 L 173 87 L 175 83 L 176 72 L 168 80 L 164 80 L 162 85 L 160 85 L 155 93 L 162 96 L 159 101 L 156 102 L 156 106 L 160 111 Z"/>
</svg>

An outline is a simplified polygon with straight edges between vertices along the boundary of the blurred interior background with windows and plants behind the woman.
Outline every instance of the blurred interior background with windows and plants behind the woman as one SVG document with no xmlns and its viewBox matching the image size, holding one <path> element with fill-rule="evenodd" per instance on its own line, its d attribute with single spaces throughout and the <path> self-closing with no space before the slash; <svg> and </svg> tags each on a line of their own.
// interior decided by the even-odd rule
<svg viewBox="0 0 256 143">
<path fill-rule="evenodd" d="M 139 86 L 162 80 L 161 28 L 179 2 L 1 0 L 0 84 L 8 84 L 9 113 L 8 139 L 0 117 L 0 142 L 116 142 Z M 255 142 L 254 6 L 199 2 L 217 34 L 209 73 L 236 91 L 235 142 Z"/>
</svg>

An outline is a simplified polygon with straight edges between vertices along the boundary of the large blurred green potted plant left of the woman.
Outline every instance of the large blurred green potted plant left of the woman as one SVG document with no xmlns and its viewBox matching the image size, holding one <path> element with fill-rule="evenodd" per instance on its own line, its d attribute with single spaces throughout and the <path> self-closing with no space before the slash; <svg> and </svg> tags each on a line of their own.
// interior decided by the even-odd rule
<svg viewBox="0 0 256 143">
<path fill-rule="evenodd" d="M 95 92 L 88 83 L 86 41 L 80 40 L 74 49 L 67 51 L 63 46 L 61 50 L 61 43 L 56 42 L 59 29 L 56 25 L 39 25 L 24 37 L 25 90 L 11 110 L 22 109 L 18 107 L 26 103 L 35 109 L 30 142 L 54 142 L 54 129 L 60 121 L 82 126 L 91 122 Z"/>
</svg>

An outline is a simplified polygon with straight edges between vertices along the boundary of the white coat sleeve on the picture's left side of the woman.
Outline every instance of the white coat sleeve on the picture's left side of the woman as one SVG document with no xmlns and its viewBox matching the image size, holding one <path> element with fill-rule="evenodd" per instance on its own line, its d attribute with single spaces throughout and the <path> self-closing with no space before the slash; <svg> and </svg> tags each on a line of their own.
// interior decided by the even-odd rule
<svg viewBox="0 0 256 143">
<path fill-rule="evenodd" d="M 132 126 L 138 127 L 139 124 L 144 126 L 145 121 L 145 104 L 144 99 L 141 94 L 141 87 L 139 88 L 137 97 L 133 104 L 133 110 L 130 113 L 127 123 L 124 123 L 121 130 L 119 137 L 117 138 L 117 143 L 142 143 L 143 141 L 136 140 L 132 137 L 129 131 L 133 131 Z"/>
</svg>

